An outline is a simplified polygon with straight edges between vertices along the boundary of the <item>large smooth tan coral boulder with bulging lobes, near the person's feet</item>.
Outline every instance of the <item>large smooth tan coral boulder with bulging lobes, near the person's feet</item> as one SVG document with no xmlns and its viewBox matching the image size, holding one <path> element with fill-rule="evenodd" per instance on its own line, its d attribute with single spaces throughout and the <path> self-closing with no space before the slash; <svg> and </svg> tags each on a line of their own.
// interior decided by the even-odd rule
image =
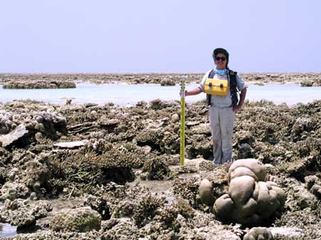
<svg viewBox="0 0 321 240">
<path fill-rule="evenodd" d="M 258 160 L 233 162 L 228 182 L 228 194 L 214 204 L 223 221 L 255 226 L 267 221 L 285 204 L 285 192 L 274 182 L 265 182 L 265 166 Z"/>
</svg>

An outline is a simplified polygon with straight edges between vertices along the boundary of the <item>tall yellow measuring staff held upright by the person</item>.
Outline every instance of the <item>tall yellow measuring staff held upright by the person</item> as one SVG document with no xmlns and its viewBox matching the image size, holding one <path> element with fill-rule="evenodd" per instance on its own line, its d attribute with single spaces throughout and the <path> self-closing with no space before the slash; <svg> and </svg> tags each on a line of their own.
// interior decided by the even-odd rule
<svg viewBox="0 0 321 240">
<path fill-rule="evenodd" d="M 185 80 L 180 81 L 180 166 L 185 161 Z"/>
</svg>

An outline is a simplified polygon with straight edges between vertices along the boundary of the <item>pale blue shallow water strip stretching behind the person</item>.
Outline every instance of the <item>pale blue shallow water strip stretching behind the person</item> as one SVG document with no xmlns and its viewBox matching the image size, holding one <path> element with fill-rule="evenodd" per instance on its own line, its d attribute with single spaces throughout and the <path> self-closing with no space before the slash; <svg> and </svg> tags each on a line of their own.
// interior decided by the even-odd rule
<svg viewBox="0 0 321 240">
<path fill-rule="evenodd" d="M 67 98 L 72 103 L 114 103 L 116 105 L 135 105 L 139 101 L 150 102 L 156 98 L 161 100 L 180 100 L 180 85 L 161 86 L 153 85 L 126 85 L 126 84 L 92 84 L 78 83 L 76 88 L 68 89 L 4 89 L 0 88 L 0 102 L 12 100 L 38 100 L 45 103 L 63 105 Z M 197 87 L 197 83 L 186 85 L 187 90 Z M 193 103 L 205 99 L 205 94 L 188 96 L 186 101 Z M 310 103 L 321 100 L 321 87 L 301 87 L 298 84 L 266 84 L 249 85 L 246 99 L 269 100 L 275 104 Z"/>
</svg>

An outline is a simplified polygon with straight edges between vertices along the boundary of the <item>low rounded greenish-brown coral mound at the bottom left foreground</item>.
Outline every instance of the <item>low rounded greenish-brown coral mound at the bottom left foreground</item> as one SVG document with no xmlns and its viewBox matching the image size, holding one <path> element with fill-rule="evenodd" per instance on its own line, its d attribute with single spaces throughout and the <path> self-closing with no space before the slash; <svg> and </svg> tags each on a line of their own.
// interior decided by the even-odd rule
<svg viewBox="0 0 321 240">
<path fill-rule="evenodd" d="M 101 229 L 101 215 L 90 207 L 62 211 L 51 219 L 50 229 L 54 231 L 86 232 Z"/>
</svg>

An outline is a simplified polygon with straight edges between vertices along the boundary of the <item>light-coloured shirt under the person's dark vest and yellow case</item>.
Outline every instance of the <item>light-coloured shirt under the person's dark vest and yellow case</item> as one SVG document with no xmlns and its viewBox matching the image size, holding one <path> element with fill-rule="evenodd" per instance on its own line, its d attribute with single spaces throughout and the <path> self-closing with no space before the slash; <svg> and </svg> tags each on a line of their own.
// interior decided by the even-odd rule
<svg viewBox="0 0 321 240">
<path fill-rule="evenodd" d="M 212 70 L 210 70 L 212 71 Z M 206 72 L 202 81 L 200 82 L 200 90 L 202 90 L 203 93 L 205 93 L 205 81 L 208 79 L 208 75 L 210 74 L 210 71 Z M 228 80 L 228 74 L 220 75 L 218 73 L 214 73 L 213 78 L 218 80 Z M 240 78 L 238 75 L 236 75 L 236 85 L 239 91 L 242 91 L 244 88 L 248 88 L 248 85 L 246 85 L 242 78 Z M 228 86 L 230 88 L 230 82 L 228 83 Z M 215 96 L 211 95 L 210 98 L 211 106 L 214 108 L 229 108 L 232 106 L 232 95 L 230 94 L 230 90 L 228 90 L 228 95 L 226 96 Z"/>
</svg>

